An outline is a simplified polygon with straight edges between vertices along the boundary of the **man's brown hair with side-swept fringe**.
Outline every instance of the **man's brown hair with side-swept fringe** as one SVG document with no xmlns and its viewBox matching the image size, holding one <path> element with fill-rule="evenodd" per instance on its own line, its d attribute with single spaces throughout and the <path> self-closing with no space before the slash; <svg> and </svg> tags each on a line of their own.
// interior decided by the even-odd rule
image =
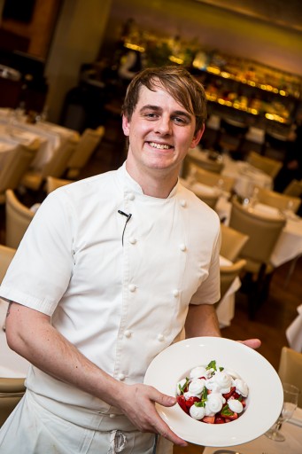
<svg viewBox="0 0 302 454">
<path fill-rule="evenodd" d="M 196 117 L 196 130 L 206 120 L 205 90 L 201 83 L 184 67 L 150 67 L 143 69 L 128 85 L 122 106 L 122 114 L 131 120 L 136 109 L 140 88 L 144 86 L 155 91 L 163 87 L 181 106 Z"/>
</svg>

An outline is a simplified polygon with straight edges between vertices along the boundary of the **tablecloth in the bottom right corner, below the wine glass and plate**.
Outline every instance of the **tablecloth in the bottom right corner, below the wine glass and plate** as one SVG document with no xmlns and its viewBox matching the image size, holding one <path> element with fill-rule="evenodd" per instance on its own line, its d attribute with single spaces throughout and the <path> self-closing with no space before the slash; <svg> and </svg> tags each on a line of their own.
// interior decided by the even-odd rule
<svg viewBox="0 0 302 454">
<path fill-rule="evenodd" d="M 225 448 L 205 448 L 203 454 L 301 454 L 302 409 L 298 408 L 295 411 L 292 421 L 294 422 L 295 419 L 298 420 L 298 424 L 301 424 L 300 426 L 291 424 L 290 422 L 283 423 L 281 430 L 283 435 L 285 436 L 284 442 L 274 442 L 263 434 L 252 442 L 238 444 L 237 446 Z"/>
</svg>

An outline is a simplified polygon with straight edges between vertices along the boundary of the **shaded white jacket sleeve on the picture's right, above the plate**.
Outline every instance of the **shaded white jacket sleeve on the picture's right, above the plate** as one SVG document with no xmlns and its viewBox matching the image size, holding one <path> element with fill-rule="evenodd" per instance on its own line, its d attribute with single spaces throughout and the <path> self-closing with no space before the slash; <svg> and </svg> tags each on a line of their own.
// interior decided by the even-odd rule
<svg viewBox="0 0 302 454">
<path fill-rule="evenodd" d="M 218 216 L 217 216 L 218 219 Z M 221 228 L 220 223 L 213 224 L 217 229 L 216 241 L 213 244 L 212 260 L 209 266 L 209 275 L 193 294 L 190 304 L 214 304 L 221 297 L 221 273 L 220 273 L 220 251 L 221 251 Z"/>
</svg>

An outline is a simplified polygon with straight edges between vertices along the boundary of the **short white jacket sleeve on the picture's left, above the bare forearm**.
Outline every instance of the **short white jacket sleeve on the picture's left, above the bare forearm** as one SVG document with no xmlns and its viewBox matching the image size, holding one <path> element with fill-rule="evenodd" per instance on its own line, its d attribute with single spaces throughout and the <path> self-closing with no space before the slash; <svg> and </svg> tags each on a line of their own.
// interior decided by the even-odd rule
<svg viewBox="0 0 302 454">
<path fill-rule="evenodd" d="M 37 210 L 4 277 L 3 298 L 53 313 L 73 272 L 74 213 L 51 192 Z"/>
</svg>

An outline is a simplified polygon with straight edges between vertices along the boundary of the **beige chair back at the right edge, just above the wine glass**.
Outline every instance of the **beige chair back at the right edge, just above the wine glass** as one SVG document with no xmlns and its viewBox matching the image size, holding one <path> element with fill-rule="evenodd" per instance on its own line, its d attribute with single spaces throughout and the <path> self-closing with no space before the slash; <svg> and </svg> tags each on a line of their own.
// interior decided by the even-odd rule
<svg viewBox="0 0 302 454">
<path fill-rule="evenodd" d="M 299 388 L 298 407 L 302 407 L 302 353 L 289 347 L 283 347 L 278 374 L 283 383 L 290 383 Z"/>
</svg>

